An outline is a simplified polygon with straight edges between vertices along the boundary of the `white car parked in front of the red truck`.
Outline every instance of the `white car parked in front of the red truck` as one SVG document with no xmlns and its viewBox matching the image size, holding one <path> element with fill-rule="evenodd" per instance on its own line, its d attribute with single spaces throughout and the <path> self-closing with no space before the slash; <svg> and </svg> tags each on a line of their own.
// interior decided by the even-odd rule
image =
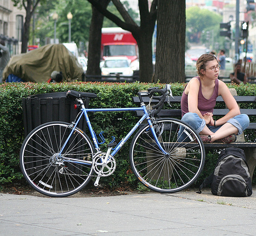
<svg viewBox="0 0 256 236">
<path fill-rule="evenodd" d="M 101 67 L 101 75 L 106 76 L 108 79 L 132 79 L 133 70 L 131 62 L 127 57 L 108 57 L 104 60 Z"/>
</svg>

